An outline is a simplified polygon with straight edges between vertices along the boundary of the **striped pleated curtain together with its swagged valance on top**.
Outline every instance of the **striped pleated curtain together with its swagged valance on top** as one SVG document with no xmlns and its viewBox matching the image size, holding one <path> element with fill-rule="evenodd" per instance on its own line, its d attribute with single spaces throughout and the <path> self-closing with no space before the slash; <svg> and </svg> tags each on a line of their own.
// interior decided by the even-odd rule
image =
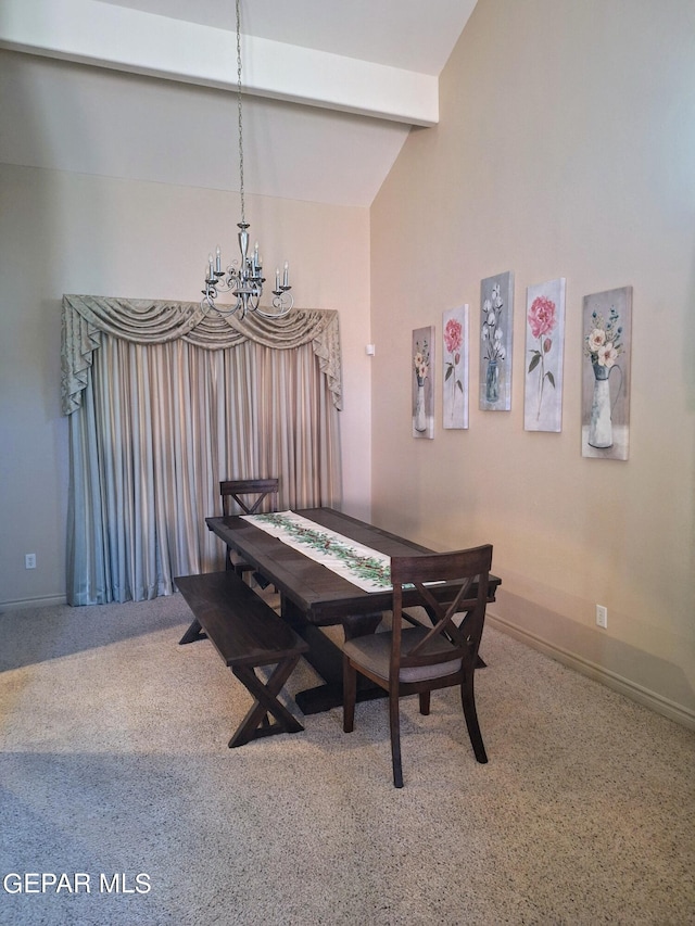
<svg viewBox="0 0 695 926">
<path fill-rule="evenodd" d="M 282 508 L 341 502 L 338 313 L 63 296 L 67 600 L 147 600 L 224 568 L 219 481 L 278 477 Z"/>
</svg>

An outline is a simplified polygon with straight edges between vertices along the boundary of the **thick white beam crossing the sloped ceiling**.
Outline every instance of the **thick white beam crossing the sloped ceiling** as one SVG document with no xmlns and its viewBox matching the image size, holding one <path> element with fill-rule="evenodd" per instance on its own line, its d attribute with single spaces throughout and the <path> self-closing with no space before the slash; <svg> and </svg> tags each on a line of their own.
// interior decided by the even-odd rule
<svg viewBox="0 0 695 926">
<path fill-rule="evenodd" d="M 233 33 L 99 0 L 2 0 L 0 47 L 224 90 L 237 88 Z M 438 78 L 242 36 L 242 88 L 376 118 L 431 126 Z"/>
</svg>

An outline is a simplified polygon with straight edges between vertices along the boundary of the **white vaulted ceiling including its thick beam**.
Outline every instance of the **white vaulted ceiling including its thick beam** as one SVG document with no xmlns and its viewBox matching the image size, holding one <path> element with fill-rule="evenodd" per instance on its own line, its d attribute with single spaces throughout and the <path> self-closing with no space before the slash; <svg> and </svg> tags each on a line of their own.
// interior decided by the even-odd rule
<svg viewBox="0 0 695 926">
<path fill-rule="evenodd" d="M 247 191 L 368 206 L 475 4 L 242 0 Z M 2 0 L 0 160 L 238 189 L 235 23 L 233 0 Z"/>
</svg>

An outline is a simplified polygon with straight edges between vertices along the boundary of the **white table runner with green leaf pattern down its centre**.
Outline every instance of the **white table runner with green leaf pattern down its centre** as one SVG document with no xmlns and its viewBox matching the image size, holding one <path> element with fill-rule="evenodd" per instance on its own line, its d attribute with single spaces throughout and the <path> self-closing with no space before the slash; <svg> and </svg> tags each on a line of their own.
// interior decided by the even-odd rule
<svg viewBox="0 0 695 926">
<path fill-rule="evenodd" d="M 383 592 L 392 587 L 391 557 L 324 528 L 316 521 L 294 511 L 241 517 L 309 559 L 342 575 L 364 592 Z"/>
</svg>

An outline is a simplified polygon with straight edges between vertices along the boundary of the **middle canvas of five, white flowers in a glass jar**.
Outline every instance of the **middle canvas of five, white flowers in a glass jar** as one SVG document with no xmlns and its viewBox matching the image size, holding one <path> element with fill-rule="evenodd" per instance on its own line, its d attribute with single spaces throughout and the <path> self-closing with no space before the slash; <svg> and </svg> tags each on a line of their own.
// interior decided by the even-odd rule
<svg viewBox="0 0 695 926">
<path fill-rule="evenodd" d="M 511 408 L 511 339 L 514 274 L 497 274 L 480 283 L 480 408 Z"/>
</svg>

